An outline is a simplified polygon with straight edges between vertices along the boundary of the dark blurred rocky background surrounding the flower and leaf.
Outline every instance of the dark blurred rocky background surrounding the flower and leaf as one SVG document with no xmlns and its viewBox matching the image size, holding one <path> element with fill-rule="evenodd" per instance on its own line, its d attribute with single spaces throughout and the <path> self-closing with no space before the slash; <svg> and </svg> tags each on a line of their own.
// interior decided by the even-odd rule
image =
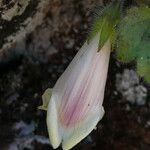
<svg viewBox="0 0 150 150">
<path fill-rule="evenodd" d="M 0 0 L 0 150 L 52 150 L 41 95 L 86 40 L 92 10 L 109 2 Z M 105 116 L 74 150 L 150 150 L 150 85 L 134 70 L 112 53 Z"/>
</svg>

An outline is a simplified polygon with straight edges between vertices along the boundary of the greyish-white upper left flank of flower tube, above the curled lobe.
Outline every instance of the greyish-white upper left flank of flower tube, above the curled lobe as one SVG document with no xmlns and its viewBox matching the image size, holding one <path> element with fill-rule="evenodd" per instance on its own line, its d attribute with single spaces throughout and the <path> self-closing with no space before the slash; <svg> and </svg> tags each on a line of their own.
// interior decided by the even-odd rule
<svg viewBox="0 0 150 150">
<path fill-rule="evenodd" d="M 53 88 L 53 94 L 56 95 L 56 101 L 58 101 L 58 103 L 60 103 L 64 92 L 67 91 L 66 88 L 72 89 L 79 74 L 83 74 L 82 72 L 85 72 L 89 67 L 96 51 L 98 50 L 98 42 L 99 34 L 97 34 L 89 44 L 85 42 L 70 65 L 56 82 Z"/>
</svg>

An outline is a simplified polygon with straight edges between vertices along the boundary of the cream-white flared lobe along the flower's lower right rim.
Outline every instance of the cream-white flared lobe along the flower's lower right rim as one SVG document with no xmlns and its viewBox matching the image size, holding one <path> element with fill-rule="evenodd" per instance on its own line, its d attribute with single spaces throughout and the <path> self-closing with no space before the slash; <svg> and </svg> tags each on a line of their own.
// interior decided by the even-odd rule
<svg viewBox="0 0 150 150">
<path fill-rule="evenodd" d="M 104 109 L 101 107 L 100 111 L 93 112 L 81 123 L 76 124 L 73 128 L 64 129 L 63 133 L 63 150 L 69 150 L 82 139 L 84 139 L 96 127 L 97 123 L 104 115 Z M 94 116 L 94 117 L 93 117 Z"/>
</svg>

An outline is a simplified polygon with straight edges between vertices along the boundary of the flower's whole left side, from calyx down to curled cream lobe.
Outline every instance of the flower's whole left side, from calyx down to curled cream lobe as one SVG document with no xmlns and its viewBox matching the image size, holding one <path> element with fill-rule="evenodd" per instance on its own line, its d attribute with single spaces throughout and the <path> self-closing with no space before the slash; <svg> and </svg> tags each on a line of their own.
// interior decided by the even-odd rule
<svg viewBox="0 0 150 150">
<path fill-rule="evenodd" d="M 58 79 L 53 88 L 51 100 L 49 102 L 47 111 L 48 133 L 53 148 L 57 148 L 62 140 L 62 131 L 59 130 L 61 129 L 61 127 L 58 121 L 58 110 L 61 104 L 65 104 L 65 101 L 62 98 L 64 92 L 68 90 L 69 93 L 70 89 L 72 89 L 72 87 L 70 86 L 75 83 L 75 81 L 78 79 L 80 72 L 82 71 L 82 68 L 80 66 L 82 64 L 84 66 L 86 65 L 87 67 L 90 65 L 89 61 L 92 61 L 94 54 L 98 50 L 98 37 L 99 36 L 97 35 L 90 44 L 87 44 L 86 42 L 83 45 L 83 47 L 79 50 L 73 61 Z M 89 53 L 90 56 L 88 56 Z"/>
</svg>

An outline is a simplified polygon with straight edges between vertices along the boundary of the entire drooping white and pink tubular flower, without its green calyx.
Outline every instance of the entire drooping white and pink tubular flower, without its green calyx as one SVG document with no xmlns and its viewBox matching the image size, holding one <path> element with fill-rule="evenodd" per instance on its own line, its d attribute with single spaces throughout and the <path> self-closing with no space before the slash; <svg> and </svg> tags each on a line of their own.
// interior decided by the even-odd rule
<svg viewBox="0 0 150 150">
<path fill-rule="evenodd" d="M 99 49 L 100 34 L 85 42 L 49 92 L 47 127 L 53 148 L 71 149 L 85 138 L 104 115 L 102 106 L 111 43 Z M 45 93 L 46 94 L 46 93 Z"/>
</svg>

